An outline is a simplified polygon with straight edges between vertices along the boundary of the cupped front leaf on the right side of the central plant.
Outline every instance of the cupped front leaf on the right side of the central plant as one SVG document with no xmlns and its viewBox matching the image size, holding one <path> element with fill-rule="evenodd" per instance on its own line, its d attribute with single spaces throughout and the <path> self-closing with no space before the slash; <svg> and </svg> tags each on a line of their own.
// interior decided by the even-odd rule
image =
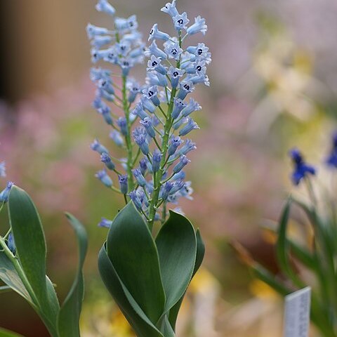
<svg viewBox="0 0 337 337">
<path fill-rule="evenodd" d="M 183 296 L 190 283 L 197 255 L 197 239 L 190 221 L 170 211 L 169 219 L 156 237 L 156 244 L 166 295 L 166 313 Z"/>
</svg>

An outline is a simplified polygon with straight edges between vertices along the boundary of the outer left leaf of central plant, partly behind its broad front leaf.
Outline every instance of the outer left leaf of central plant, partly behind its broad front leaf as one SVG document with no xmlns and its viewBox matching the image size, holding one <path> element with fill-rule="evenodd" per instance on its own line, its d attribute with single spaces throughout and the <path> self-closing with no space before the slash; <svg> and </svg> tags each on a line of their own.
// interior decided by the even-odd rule
<svg viewBox="0 0 337 337">
<path fill-rule="evenodd" d="M 137 336 L 163 337 L 163 335 L 154 326 L 154 324 L 150 322 L 150 319 L 147 318 L 139 306 L 136 308 L 136 312 L 136 300 L 132 298 L 129 292 L 127 292 L 128 296 L 126 296 L 126 286 L 124 286 L 123 282 L 121 282 L 121 279 L 117 275 L 116 270 L 114 270 L 114 266 L 107 256 L 105 246 L 100 249 L 100 253 L 98 255 L 98 270 L 100 271 L 100 277 L 102 278 L 107 290 L 110 291 L 112 297 L 116 301 L 128 322 L 131 324 Z"/>
</svg>

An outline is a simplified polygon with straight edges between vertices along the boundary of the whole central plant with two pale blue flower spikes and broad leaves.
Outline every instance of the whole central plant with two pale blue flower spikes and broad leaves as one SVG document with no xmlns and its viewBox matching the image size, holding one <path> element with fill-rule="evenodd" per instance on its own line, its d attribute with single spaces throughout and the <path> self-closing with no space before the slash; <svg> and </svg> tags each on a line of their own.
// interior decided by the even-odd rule
<svg viewBox="0 0 337 337">
<path fill-rule="evenodd" d="M 97 87 L 93 107 L 125 155 L 113 157 L 99 140 L 91 148 L 105 165 L 96 177 L 126 203 L 114 220 L 99 223 L 110 230 L 98 268 L 137 336 L 172 337 L 180 303 L 204 257 L 199 230 L 172 204 L 191 199 L 183 170 L 196 146 L 185 136 L 199 128 L 191 114 L 201 107 L 190 95 L 199 84 L 209 85 L 206 67 L 211 62 L 209 48 L 185 46 L 185 39 L 205 34 L 207 26 L 201 17 L 190 24 L 173 0 L 161 8 L 171 16 L 173 34 L 156 23 L 145 46 L 135 15 L 118 18 L 107 0 L 96 8 L 112 16 L 114 27 L 87 28 L 93 62 L 111 65 L 91 70 Z M 133 67 L 142 63 L 146 76 L 138 81 Z M 154 221 L 160 221 L 155 239 Z"/>
</svg>

